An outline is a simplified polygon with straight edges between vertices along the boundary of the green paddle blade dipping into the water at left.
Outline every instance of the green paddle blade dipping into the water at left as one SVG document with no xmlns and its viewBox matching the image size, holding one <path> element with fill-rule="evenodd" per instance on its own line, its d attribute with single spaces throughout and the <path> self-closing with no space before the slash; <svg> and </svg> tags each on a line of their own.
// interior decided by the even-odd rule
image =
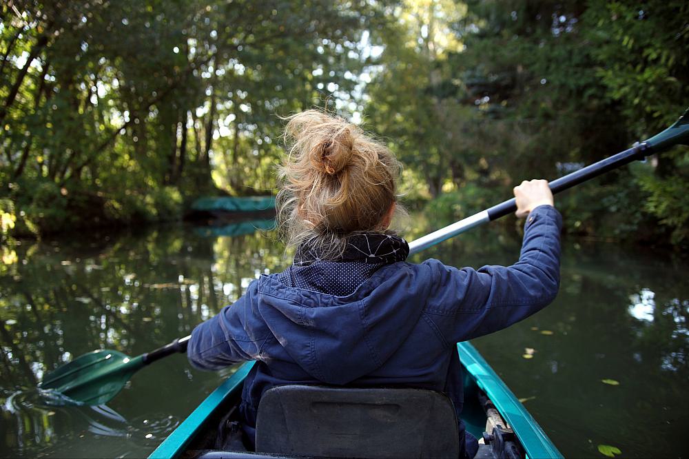
<svg viewBox="0 0 689 459">
<path fill-rule="evenodd" d="M 85 405 L 102 405 L 116 396 L 135 371 L 144 366 L 141 356 L 118 351 L 93 351 L 45 375 L 41 389 L 52 389 Z"/>
</svg>

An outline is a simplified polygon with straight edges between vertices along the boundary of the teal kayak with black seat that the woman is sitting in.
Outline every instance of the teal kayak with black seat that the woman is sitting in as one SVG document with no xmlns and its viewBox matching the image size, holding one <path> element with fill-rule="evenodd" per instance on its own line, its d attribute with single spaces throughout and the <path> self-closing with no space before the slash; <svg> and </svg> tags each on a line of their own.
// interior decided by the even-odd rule
<svg viewBox="0 0 689 459">
<path fill-rule="evenodd" d="M 464 407 L 462 409 L 462 420 L 466 425 L 466 430 L 471 432 L 476 438 L 480 440 L 480 449 L 475 456 L 476 458 L 498 458 L 498 457 L 526 457 L 526 458 L 562 458 L 553 442 L 546 436 L 546 433 L 538 425 L 531 414 L 526 411 L 524 405 L 517 400 L 515 395 L 508 389 L 505 383 L 497 376 L 491 366 L 484 360 L 481 354 L 469 342 L 457 343 L 457 353 L 464 368 Z M 227 422 L 229 414 L 235 412 L 238 406 L 243 382 L 249 370 L 254 365 L 254 362 L 247 362 L 237 367 L 232 376 L 229 376 L 217 389 L 215 389 L 203 402 L 194 409 L 190 414 L 170 435 L 151 453 L 151 459 L 172 459 L 172 458 L 275 458 L 275 457 L 294 457 L 294 453 L 289 451 L 275 451 L 260 453 L 247 452 L 243 448 L 238 449 L 223 449 L 214 450 L 212 445 L 217 445 L 216 436 L 218 436 L 218 425 Z M 292 386 L 299 387 L 299 386 Z M 303 386 L 302 386 L 303 387 Z M 271 389 L 275 391 L 276 389 Z M 335 394 L 338 391 L 347 391 L 347 389 L 340 389 L 331 387 L 328 389 Z M 349 391 L 369 391 L 371 389 L 349 389 Z M 400 389 L 373 389 L 380 391 L 381 394 L 386 394 L 386 391 L 399 391 Z M 404 389 L 402 389 L 404 390 Z M 270 392 L 270 391 L 269 391 Z M 267 392 L 266 394 L 269 394 Z M 432 392 L 432 391 L 419 391 Z M 438 394 L 438 393 L 435 393 Z M 379 399 L 385 397 L 376 396 Z M 261 400 L 261 406 L 258 414 L 258 427 L 260 429 L 261 416 L 263 404 L 266 400 L 266 395 Z M 449 399 L 448 399 L 449 402 Z M 390 406 L 390 405 L 386 405 Z M 435 405 L 434 405 L 435 406 Z M 340 405 L 341 408 L 341 405 Z M 297 410 L 298 411 L 298 410 Z M 301 410 L 302 421 L 299 425 L 303 426 L 306 417 L 306 422 L 309 422 L 308 413 L 311 411 Z M 418 410 L 417 410 L 418 411 Z M 453 410 L 452 410 L 453 411 Z M 273 411 L 270 411 L 273 412 Z M 307 414 L 304 414 L 304 413 Z M 314 411 L 315 412 L 315 411 Z M 340 411 L 341 412 L 341 411 Z M 400 413 L 403 411 L 400 411 Z M 399 413 L 398 413 L 399 414 Z M 383 411 L 378 407 L 378 418 L 384 416 Z M 376 417 L 373 416 L 373 417 Z M 278 416 L 280 417 L 280 416 Z M 284 421 L 285 418 L 282 418 Z M 356 418 L 363 422 L 361 418 Z M 278 420 L 277 425 L 279 425 Z M 341 419 L 340 419 L 341 421 Z M 402 420 L 394 420 L 393 422 L 402 422 Z M 314 420 L 311 422 L 311 431 L 324 431 L 322 425 L 317 424 Z M 265 425 L 271 425 L 267 422 Z M 456 426 L 456 420 L 455 420 Z M 291 430 L 296 429 L 295 425 L 289 427 L 289 435 Z M 320 430 L 319 430 L 320 429 Z M 346 429 L 347 430 L 347 429 Z M 258 430 L 257 430 L 258 431 Z M 345 438 L 347 442 L 352 443 L 351 431 L 356 429 L 349 429 L 340 435 L 340 438 Z M 455 427 L 456 432 L 456 427 Z M 260 436 L 270 436 L 268 433 L 257 433 L 257 444 L 260 444 Z M 313 433 L 309 433 L 312 435 Z M 276 436 L 278 434 L 276 433 Z M 456 435 L 456 434 L 455 434 Z M 317 443 L 318 438 L 313 440 Z M 264 442 L 264 445 L 266 443 Z M 279 445 L 280 442 L 278 441 Z M 354 442 L 356 444 L 356 442 Z M 389 445 L 395 445 L 389 443 Z M 260 445 L 259 445 L 260 446 Z M 392 446 L 391 446 L 392 447 Z M 258 447 L 257 449 L 261 449 Z M 265 450 L 264 450 L 265 451 Z M 450 453 L 449 453 L 450 454 Z M 435 455 L 435 454 L 434 454 Z M 299 454 L 302 456 L 313 456 L 313 454 Z M 318 456 L 326 456 L 318 453 Z M 331 456 L 327 454 L 327 456 Z M 442 455 L 441 455 L 442 456 Z M 333 454 L 331 457 L 343 457 L 341 454 Z M 347 453 L 344 457 L 366 457 L 364 454 L 358 455 L 356 453 Z M 385 456 L 376 456 L 385 457 Z M 389 456 L 392 457 L 392 456 Z"/>
</svg>

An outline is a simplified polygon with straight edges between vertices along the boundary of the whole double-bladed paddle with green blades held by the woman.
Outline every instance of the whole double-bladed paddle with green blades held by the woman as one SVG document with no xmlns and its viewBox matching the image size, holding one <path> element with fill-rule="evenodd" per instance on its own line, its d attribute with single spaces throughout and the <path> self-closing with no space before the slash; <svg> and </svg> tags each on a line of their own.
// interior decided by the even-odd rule
<svg viewBox="0 0 689 459">
<path fill-rule="evenodd" d="M 629 150 L 552 181 L 550 183 L 551 190 L 553 193 L 559 193 L 588 179 L 593 179 L 595 176 L 637 159 L 644 159 L 650 154 L 659 153 L 680 143 L 689 144 L 689 109 L 675 124 L 660 134 L 635 144 Z M 410 252 L 415 254 L 477 225 L 511 214 L 515 210 L 517 210 L 517 206 L 514 199 L 504 201 L 504 203 L 494 205 L 490 209 L 418 238 L 409 244 Z M 179 338 L 168 345 L 135 358 L 125 356 L 118 351 L 94 351 L 47 374 L 39 387 L 59 391 L 75 402 L 100 405 L 116 396 L 138 369 L 176 352 L 185 352 L 189 338 L 189 336 Z"/>
</svg>

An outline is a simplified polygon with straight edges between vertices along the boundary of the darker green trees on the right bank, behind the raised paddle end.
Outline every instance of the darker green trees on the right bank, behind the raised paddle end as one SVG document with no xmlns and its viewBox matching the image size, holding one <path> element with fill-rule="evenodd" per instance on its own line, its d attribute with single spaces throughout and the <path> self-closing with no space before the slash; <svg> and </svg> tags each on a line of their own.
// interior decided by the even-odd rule
<svg viewBox="0 0 689 459">
<path fill-rule="evenodd" d="M 420 4 L 451 14 L 410 28 L 404 8 Z M 552 179 L 624 150 L 689 101 L 686 2 L 404 5 L 382 38 L 367 114 L 426 178 L 435 197 L 427 210 L 444 219 L 470 214 L 484 196 L 491 201 L 472 211 L 500 202 L 524 179 Z M 454 17 L 446 34 L 461 45 L 433 54 L 442 17 Z M 681 243 L 688 156 L 683 147 L 558 196 L 566 231 Z"/>
</svg>

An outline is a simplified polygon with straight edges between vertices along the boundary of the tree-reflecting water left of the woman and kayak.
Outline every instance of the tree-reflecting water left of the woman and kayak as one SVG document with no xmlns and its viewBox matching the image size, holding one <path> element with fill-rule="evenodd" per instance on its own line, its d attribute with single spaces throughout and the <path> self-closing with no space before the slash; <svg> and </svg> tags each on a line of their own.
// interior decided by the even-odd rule
<svg viewBox="0 0 689 459">
<path fill-rule="evenodd" d="M 124 391 L 131 394 L 121 394 L 111 407 L 58 408 L 30 388 L 45 372 L 93 349 L 138 355 L 189 334 L 243 294 L 258 274 L 283 263 L 282 247 L 256 232 L 271 225 L 272 221 L 245 223 L 231 231 L 232 237 L 180 227 L 110 241 L 14 247 L 17 263 L 4 265 L 0 278 L 5 439 L 0 455 L 143 456 L 152 450 L 220 376 L 198 374 L 177 362 L 174 372 L 183 367 L 186 377 L 169 376 L 174 396 L 167 406 L 156 390 L 161 376 L 167 378 L 165 365 L 156 365 L 162 373 L 158 378 L 153 377 L 155 371 L 135 377 Z M 136 385 L 146 379 L 154 383 Z M 203 386 L 203 380 L 208 384 Z M 192 394 L 181 396 L 189 387 Z M 156 396 L 157 401 L 148 405 L 159 416 L 141 400 Z M 120 411 L 134 416 L 127 419 Z M 126 441 L 99 442 L 90 452 L 72 451 L 70 442 L 75 439 L 90 444 L 102 437 Z"/>
</svg>

